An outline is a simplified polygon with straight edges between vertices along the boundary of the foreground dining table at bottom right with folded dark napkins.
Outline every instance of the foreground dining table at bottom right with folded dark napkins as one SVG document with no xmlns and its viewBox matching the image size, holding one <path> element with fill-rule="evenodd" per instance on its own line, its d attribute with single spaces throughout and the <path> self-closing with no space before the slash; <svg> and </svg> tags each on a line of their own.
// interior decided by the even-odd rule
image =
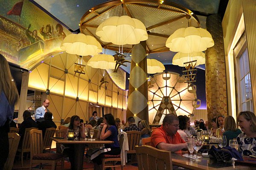
<svg viewBox="0 0 256 170">
<path fill-rule="evenodd" d="M 219 162 L 215 159 L 210 159 L 209 156 L 203 156 L 202 153 L 198 153 L 201 158 L 199 161 L 184 157 L 188 154 L 187 151 L 172 153 L 172 165 L 183 167 L 191 170 L 255 170 L 255 166 L 248 164 L 236 164 L 235 161 Z"/>
</svg>

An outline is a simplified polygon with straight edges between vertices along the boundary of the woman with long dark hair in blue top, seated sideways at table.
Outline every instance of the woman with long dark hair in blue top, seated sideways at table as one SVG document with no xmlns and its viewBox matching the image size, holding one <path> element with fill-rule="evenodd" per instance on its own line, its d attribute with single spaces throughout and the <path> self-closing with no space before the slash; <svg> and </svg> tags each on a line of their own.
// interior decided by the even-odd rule
<svg viewBox="0 0 256 170">
<path fill-rule="evenodd" d="M 117 139 L 118 131 L 116 127 L 116 122 L 114 116 L 109 113 L 104 115 L 103 123 L 101 124 L 102 130 L 98 133 L 99 139 L 105 139 L 108 141 L 113 141 L 113 144 L 105 144 L 106 148 L 111 148 L 110 151 L 101 153 L 99 156 L 93 159 L 94 170 L 102 170 L 102 157 L 103 155 L 119 155 L 121 153 L 119 142 Z"/>
</svg>

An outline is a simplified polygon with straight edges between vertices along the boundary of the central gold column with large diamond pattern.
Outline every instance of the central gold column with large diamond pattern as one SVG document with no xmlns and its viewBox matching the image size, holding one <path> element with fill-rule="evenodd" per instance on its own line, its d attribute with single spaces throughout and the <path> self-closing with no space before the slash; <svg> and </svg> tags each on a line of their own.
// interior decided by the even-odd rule
<svg viewBox="0 0 256 170">
<path fill-rule="evenodd" d="M 148 121 L 148 81 L 146 41 L 134 45 L 131 52 L 128 108 L 126 118 L 138 116 Z"/>
</svg>

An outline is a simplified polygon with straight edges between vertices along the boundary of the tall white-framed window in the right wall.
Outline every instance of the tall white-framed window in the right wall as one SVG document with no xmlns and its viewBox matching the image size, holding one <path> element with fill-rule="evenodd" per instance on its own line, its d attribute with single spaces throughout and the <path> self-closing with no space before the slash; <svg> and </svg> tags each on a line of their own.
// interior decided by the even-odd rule
<svg viewBox="0 0 256 170">
<path fill-rule="evenodd" d="M 234 56 L 236 57 L 236 98 L 238 101 L 238 111 L 253 112 L 253 96 L 245 34 L 242 35 L 234 48 Z"/>
</svg>

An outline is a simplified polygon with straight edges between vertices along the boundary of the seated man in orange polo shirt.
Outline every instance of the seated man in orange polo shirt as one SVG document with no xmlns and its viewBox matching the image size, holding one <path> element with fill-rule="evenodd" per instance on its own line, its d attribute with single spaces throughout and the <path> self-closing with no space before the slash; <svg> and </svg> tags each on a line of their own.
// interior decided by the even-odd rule
<svg viewBox="0 0 256 170">
<path fill-rule="evenodd" d="M 171 152 L 187 149 L 187 143 L 177 133 L 179 119 L 173 114 L 168 114 L 163 119 L 163 124 L 152 132 L 151 146 L 160 150 Z"/>
</svg>

